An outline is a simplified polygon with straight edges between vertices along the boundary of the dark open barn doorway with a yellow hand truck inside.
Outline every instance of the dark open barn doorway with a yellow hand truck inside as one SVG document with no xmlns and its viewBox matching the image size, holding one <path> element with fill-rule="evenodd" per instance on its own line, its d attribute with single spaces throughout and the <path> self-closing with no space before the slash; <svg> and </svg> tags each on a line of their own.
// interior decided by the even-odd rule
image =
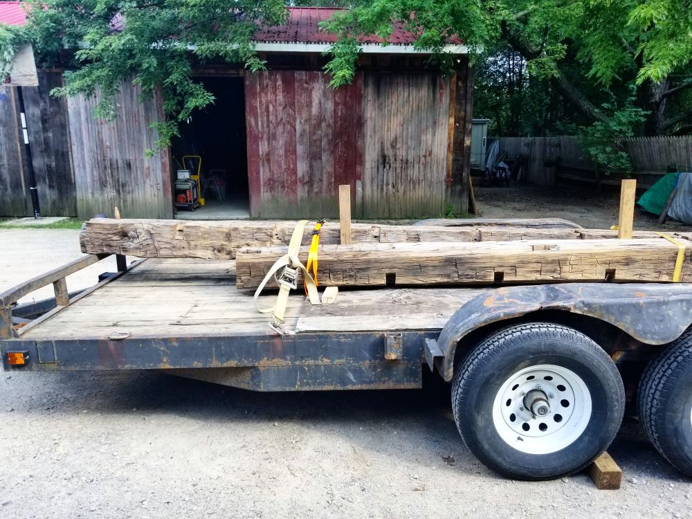
<svg viewBox="0 0 692 519">
<path fill-rule="evenodd" d="M 181 125 L 172 145 L 173 183 L 187 170 L 197 172 L 201 157 L 199 197 L 203 205 L 179 206 L 179 219 L 240 219 L 250 217 L 248 155 L 243 78 L 196 78 L 214 95 L 206 109 L 195 111 Z M 182 193 L 177 190 L 176 193 Z M 194 208 L 194 211 L 191 210 Z"/>
</svg>

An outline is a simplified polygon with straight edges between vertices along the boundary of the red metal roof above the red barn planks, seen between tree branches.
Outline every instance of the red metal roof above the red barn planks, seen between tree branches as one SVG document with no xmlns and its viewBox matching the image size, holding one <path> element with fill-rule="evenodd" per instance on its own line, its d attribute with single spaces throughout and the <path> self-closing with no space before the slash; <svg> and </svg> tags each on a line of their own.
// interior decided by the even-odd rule
<svg viewBox="0 0 692 519">
<path fill-rule="evenodd" d="M 264 27 L 253 36 L 255 42 L 330 44 L 336 42 L 336 34 L 320 30 L 320 21 L 327 20 L 335 12 L 345 9 L 322 7 L 291 7 L 286 24 Z M 416 35 L 404 30 L 400 25 L 394 26 L 389 38 L 390 44 L 410 45 Z M 359 37 L 363 44 L 379 44 L 384 40 L 376 36 Z"/>
</svg>

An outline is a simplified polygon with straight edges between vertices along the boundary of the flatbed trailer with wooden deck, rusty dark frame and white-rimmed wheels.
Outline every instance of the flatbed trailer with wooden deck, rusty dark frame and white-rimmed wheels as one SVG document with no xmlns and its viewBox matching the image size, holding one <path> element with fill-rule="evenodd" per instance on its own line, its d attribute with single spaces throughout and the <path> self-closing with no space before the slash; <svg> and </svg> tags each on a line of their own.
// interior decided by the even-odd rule
<svg viewBox="0 0 692 519">
<path fill-rule="evenodd" d="M 692 475 L 689 284 L 354 289 L 318 307 L 292 295 L 280 335 L 236 288 L 233 260 L 121 258 L 69 295 L 64 278 L 103 257 L 0 295 L 4 370 L 165 370 L 258 391 L 419 388 L 433 370 L 452 383 L 466 445 L 503 475 L 579 471 L 626 401 Z M 16 305 L 48 284 L 52 309 Z"/>
</svg>

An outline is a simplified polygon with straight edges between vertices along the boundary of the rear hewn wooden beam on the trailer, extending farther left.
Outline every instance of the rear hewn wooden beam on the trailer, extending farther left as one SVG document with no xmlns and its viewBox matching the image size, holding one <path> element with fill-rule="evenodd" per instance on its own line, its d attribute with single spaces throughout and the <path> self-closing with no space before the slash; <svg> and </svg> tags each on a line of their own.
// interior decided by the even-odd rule
<svg viewBox="0 0 692 519">
<path fill-rule="evenodd" d="M 82 252 L 138 257 L 235 258 L 239 248 L 288 245 L 295 221 L 184 221 L 96 218 L 80 235 Z M 303 244 L 309 244 L 314 225 L 307 225 Z M 352 224 L 354 244 L 419 242 L 479 242 L 515 239 L 579 239 L 579 229 L 507 228 L 504 226 L 391 226 Z M 327 221 L 320 244 L 340 244 L 338 221 Z"/>
</svg>

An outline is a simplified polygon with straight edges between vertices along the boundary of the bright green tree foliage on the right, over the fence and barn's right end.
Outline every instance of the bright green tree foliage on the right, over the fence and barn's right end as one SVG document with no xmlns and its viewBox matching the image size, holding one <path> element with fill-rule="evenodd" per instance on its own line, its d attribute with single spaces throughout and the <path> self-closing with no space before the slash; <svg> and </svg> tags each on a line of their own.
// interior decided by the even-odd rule
<svg viewBox="0 0 692 519">
<path fill-rule="evenodd" d="M 571 131 L 605 170 L 629 170 L 620 138 L 692 131 L 690 0 L 381 0 L 325 27 L 342 35 L 332 84 L 352 80 L 359 34 L 392 23 L 440 53 L 450 34 L 480 51 L 475 116 L 500 135 Z"/>
</svg>

